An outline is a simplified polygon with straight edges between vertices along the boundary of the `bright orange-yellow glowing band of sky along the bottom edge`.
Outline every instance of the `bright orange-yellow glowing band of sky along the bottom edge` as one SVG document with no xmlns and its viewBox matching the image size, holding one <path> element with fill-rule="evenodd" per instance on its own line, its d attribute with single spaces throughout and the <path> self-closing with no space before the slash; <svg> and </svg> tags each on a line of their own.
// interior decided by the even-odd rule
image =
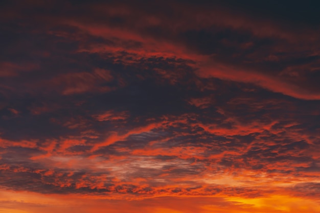
<svg viewBox="0 0 320 213">
<path fill-rule="evenodd" d="M 2 191 L 3 212 L 319 212 L 316 200 L 271 195 L 261 198 L 159 197 L 141 200 L 112 200 L 82 196 L 41 195 L 30 192 Z"/>
</svg>

